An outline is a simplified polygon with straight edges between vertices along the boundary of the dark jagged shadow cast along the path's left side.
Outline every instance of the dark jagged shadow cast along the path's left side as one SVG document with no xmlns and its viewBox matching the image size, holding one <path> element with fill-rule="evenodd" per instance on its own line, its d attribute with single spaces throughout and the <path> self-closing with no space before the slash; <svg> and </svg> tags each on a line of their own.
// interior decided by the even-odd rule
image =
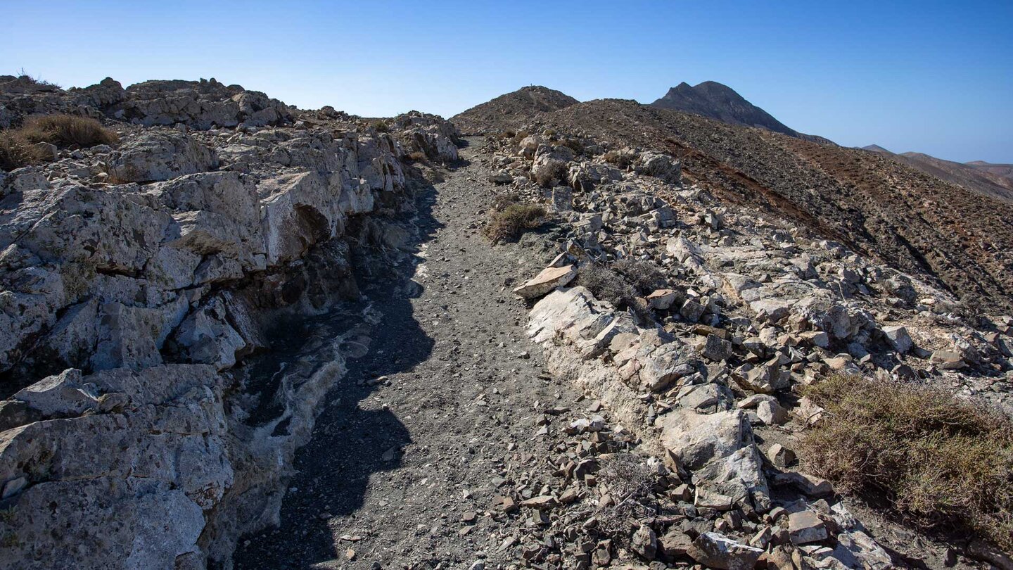
<svg viewBox="0 0 1013 570">
<path fill-rule="evenodd" d="M 362 309 L 380 313 L 379 324 L 368 333 L 371 349 L 348 360 L 347 373 L 322 405 L 311 441 L 297 452 L 280 526 L 240 540 L 237 569 L 309 568 L 338 558 L 328 519 L 363 506 L 371 475 L 400 467 L 400 450 L 411 435 L 392 412 L 371 400 L 375 386 L 370 380 L 410 371 L 432 353 L 434 340 L 419 327 L 410 299 L 422 291 L 411 279 L 423 261 L 421 245 L 442 227 L 432 214 L 436 193 L 428 185 L 416 191 L 416 232 L 402 253 L 382 259 L 367 247 L 354 256 L 366 300 L 335 310 L 337 323 L 327 329 L 365 329 L 362 320 L 350 322 L 349 314 Z"/>
</svg>

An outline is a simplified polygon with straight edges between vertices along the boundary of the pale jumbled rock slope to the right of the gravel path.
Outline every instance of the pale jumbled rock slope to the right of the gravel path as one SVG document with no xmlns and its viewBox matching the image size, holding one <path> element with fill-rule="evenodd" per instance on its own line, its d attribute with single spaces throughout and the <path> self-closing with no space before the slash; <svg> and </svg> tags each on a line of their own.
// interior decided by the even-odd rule
<svg viewBox="0 0 1013 570">
<path fill-rule="evenodd" d="M 577 568 L 609 560 L 785 569 L 951 564 L 955 551 L 946 545 L 919 538 L 923 547 L 913 548 L 910 533 L 856 515 L 833 486 L 804 473 L 793 442 L 807 426 L 833 420 L 799 399 L 798 387 L 862 374 L 942 385 L 1010 410 L 1013 317 L 968 325 L 950 312 L 956 299 L 929 283 L 680 184 L 671 156 L 533 131 L 490 138 L 487 158 L 490 180 L 549 205 L 564 230 L 549 266 L 560 269 L 516 289 L 534 302 L 528 335 L 555 376 L 611 417 L 597 427 L 593 417 L 578 418 L 570 433 L 638 436 L 629 451 L 652 474 L 644 477 L 653 490 L 625 511 L 623 531 L 611 540 L 601 523 L 616 490 L 595 474 L 613 459 L 605 447 L 581 455 L 578 446 L 577 458 L 556 465 L 570 473 L 566 466 L 594 461 L 590 477 L 574 476 L 583 479 L 573 503 L 580 506 L 557 494 L 529 502 L 548 512 L 544 533 L 556 537 L 572 532 L 583 509 L 591 542 L 545 540 L 558 550 L 543 547 L 535 560 L 551 563 L 558 552 L 569 561 L 564 567 Z M 562 164 L 539 185 L 546 156 Z M 658 162 L 668 165 L 644 168 Z M 621 260 L 664 275 L 664 286 L 639 299 L 647 310 L 596 298 L 581 282 L 582 271 Z M 893 538 L 906 535 L 907 544 Z M 980 544 L 957 548 L 1009 564 Z"/>
</svg>

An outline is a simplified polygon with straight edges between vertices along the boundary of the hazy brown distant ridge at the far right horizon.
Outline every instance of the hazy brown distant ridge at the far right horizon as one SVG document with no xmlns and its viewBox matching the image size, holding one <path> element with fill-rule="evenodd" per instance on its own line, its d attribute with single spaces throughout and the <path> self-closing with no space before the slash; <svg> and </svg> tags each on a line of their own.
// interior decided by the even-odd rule
<svg viewBox="0 0 1013 570">
<path fill-rule="evenodd" d="M 939 180 L 1013 204 L 1013 164 L 995 164 L 984 160 L 955 162 L 923 152 L 894 153 L 877 144 L 863 146 L 862 149 L 890 156 Z"/>
</svg>

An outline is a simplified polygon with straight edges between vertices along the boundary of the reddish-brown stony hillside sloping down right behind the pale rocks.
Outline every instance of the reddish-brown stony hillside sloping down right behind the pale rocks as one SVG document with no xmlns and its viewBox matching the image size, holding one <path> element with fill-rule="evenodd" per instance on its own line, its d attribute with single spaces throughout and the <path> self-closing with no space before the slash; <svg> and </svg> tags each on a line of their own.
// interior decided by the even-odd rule
<svg viewBox="0 0 1013 570">
<path fill-rule="evenodd" d="M 533 123 L 670 152 L 688 182 L 722 200 L 762 207 L 923 275 L 976 309 L 1013 305 L 1013 206 L 888 157 L 631 100 L 588 101 Z"/>
</svg>

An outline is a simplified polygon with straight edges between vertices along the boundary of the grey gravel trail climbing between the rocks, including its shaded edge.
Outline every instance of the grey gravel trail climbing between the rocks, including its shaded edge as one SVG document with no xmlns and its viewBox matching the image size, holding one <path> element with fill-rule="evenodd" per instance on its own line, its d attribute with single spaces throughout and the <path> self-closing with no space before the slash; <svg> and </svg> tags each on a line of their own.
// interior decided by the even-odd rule
<svg viewBox="0 0 1013 570">
<path fill-rule="evenodd" d="M 470 163 L 419 196 L 417 263 L 364 291 L 383 313 L 372 348 L 350 361 L 299 452 L 281 525 L 248 537 L 237 568 L 458 568 L 512 557 L 499 546 L 517 532 L 516 515 L 486 511 L 517 479 L 515 464 L 547 451 L 536 403 L 579 398 L 547 379 L 524 337 L 527 310 L 510 293 L 550 254 L 490 247 L 479 233 L 493 193 L 475 160 L 479 141 L 462 151 Z"/>
</svg>

